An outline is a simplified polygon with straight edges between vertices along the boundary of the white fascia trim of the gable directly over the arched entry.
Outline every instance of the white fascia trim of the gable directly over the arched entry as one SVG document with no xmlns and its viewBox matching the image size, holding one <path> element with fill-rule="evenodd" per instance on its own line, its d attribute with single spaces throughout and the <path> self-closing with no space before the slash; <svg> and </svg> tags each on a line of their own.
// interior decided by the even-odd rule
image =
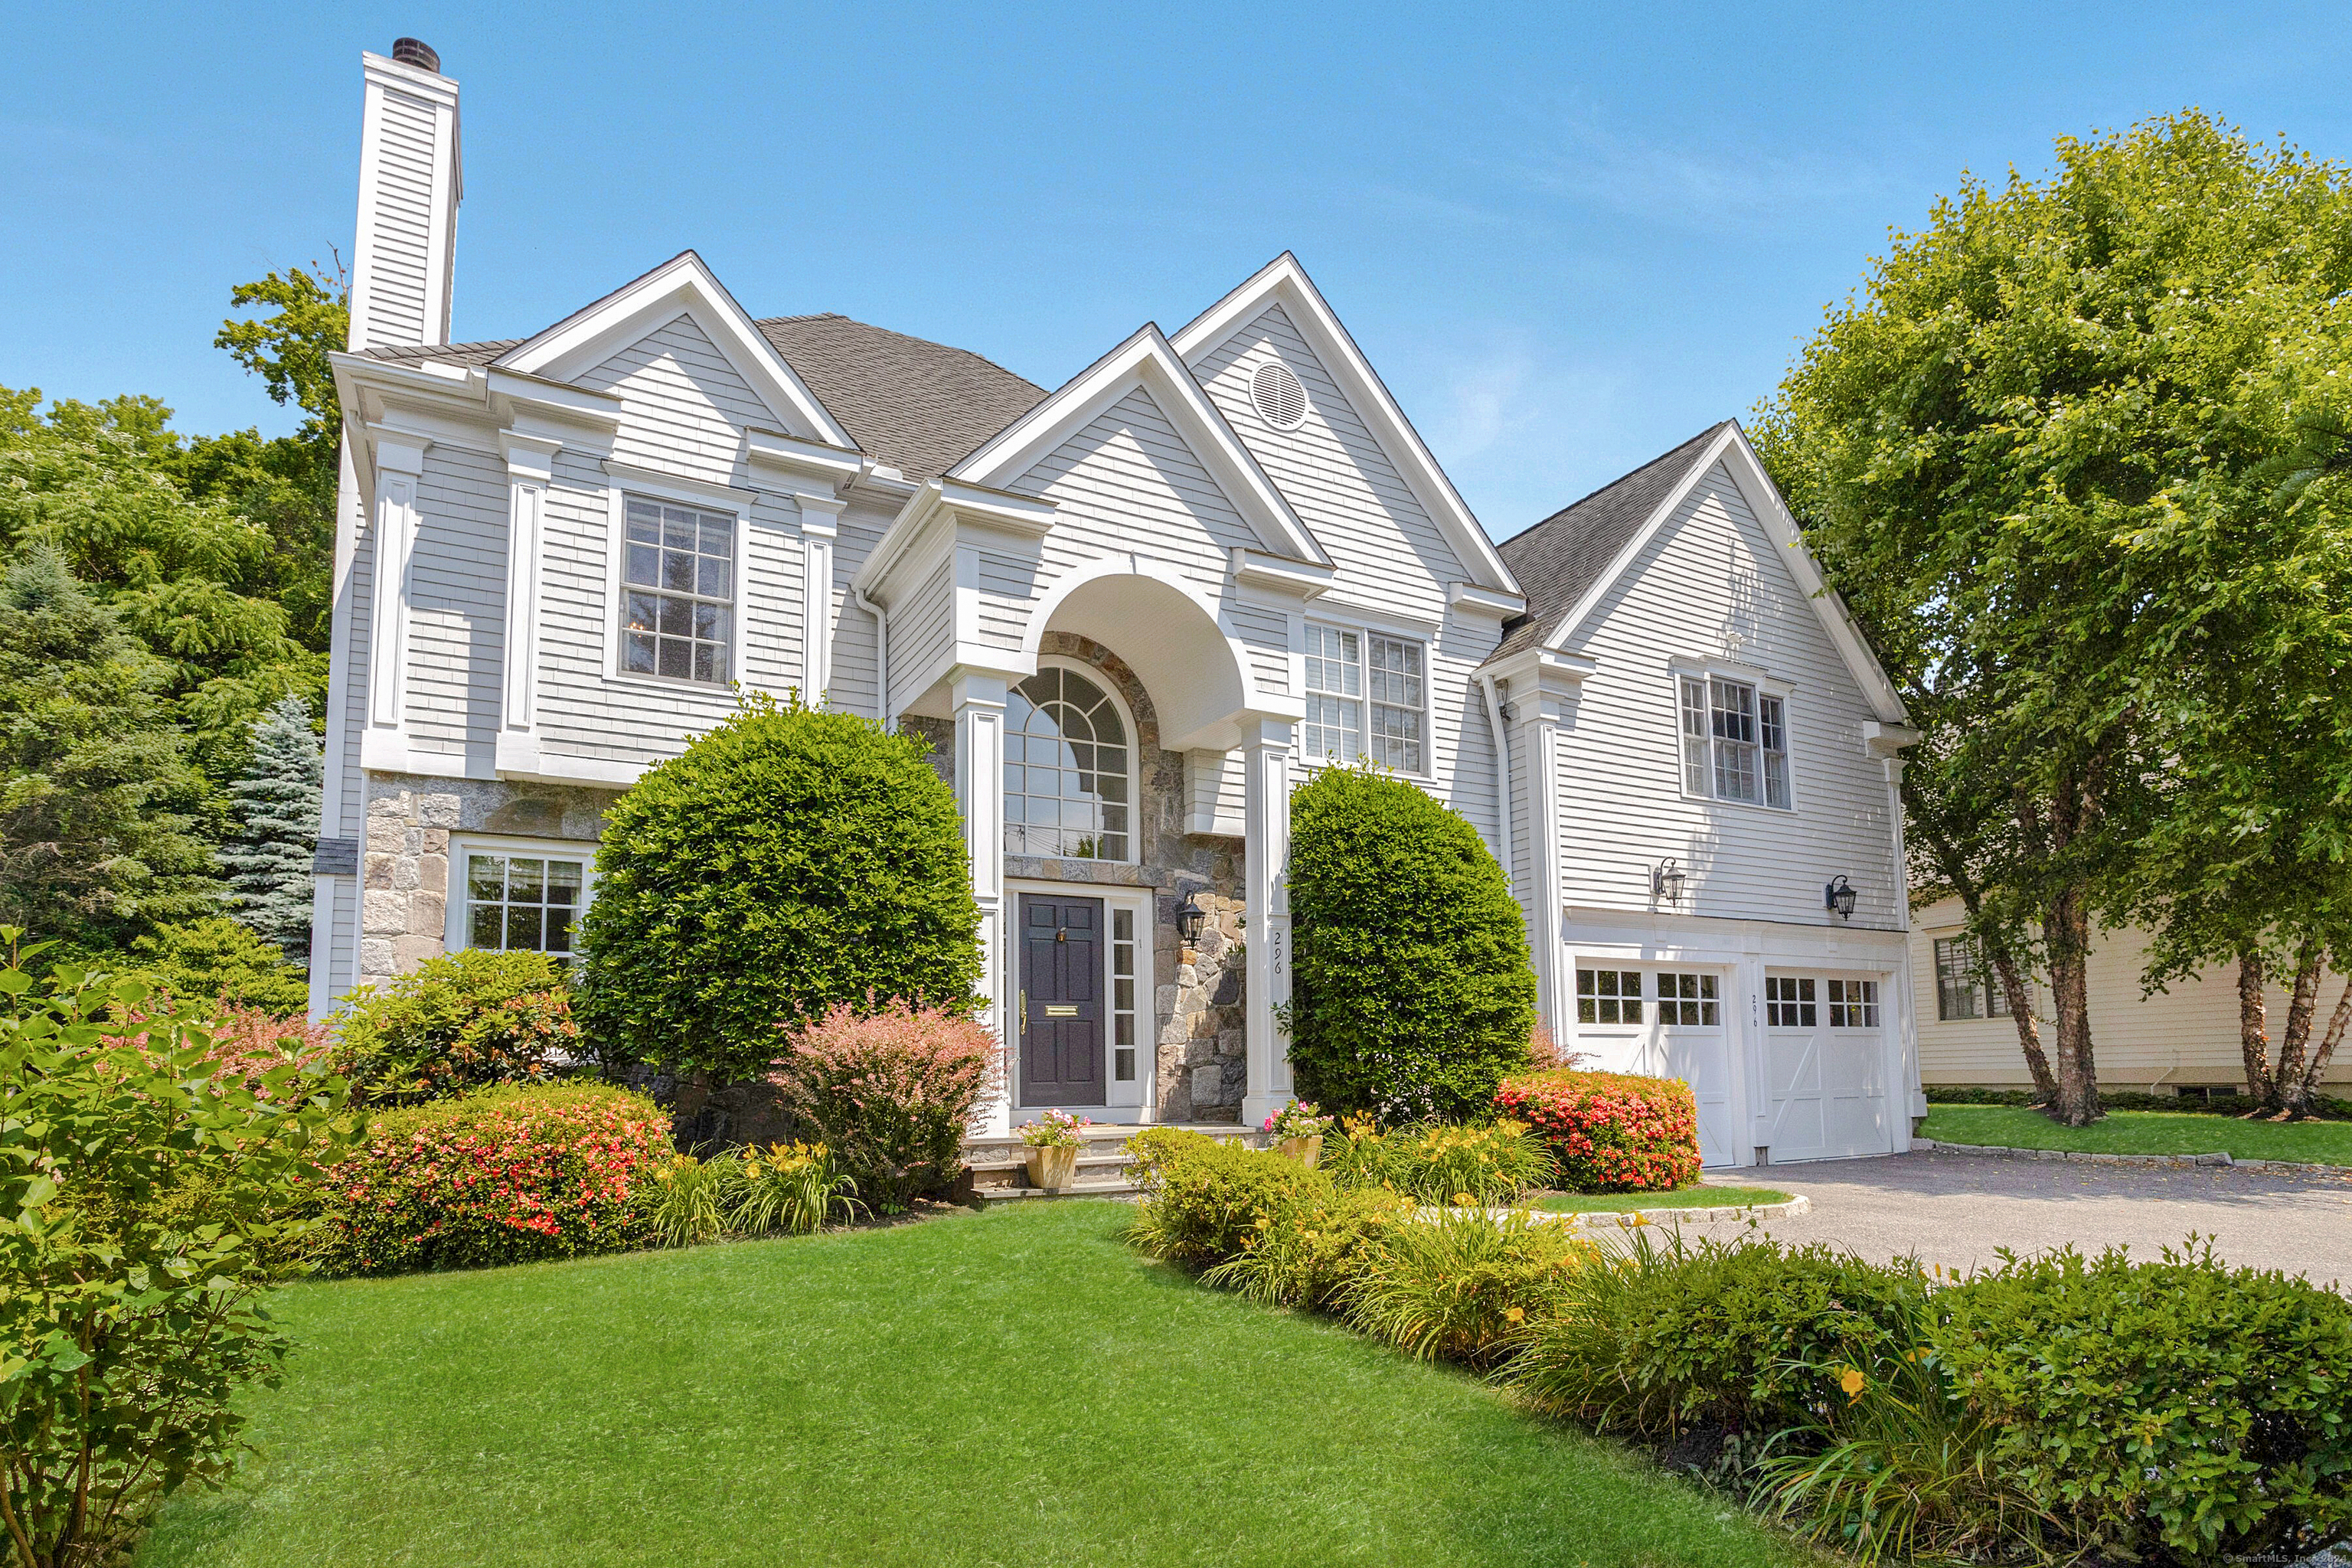
<svg viewBox="0 0 2352 1568">
<path fill-rule="evenodd" d="M 1051 397 L 997 430 L 988 444 L 950 468 L 948 477 L 1007 487 L 1134 388 L 1152 395 L 1160 411 L 1176 425 L 1176 435 L 1192 447 L 1192 456 L 1202 461 L 1270 555 L 1317 567 L 1331 564 L 1308 524 L 1298 522 L 1298 512 L 1258 468 L 1258 458 L 1249 456 L 1249 447 L 1200 390 L 1190 367 L 1176 355 L 1160 327 L 1148 322 L 1131 339 L 1077 371 Z"/>
</svg>

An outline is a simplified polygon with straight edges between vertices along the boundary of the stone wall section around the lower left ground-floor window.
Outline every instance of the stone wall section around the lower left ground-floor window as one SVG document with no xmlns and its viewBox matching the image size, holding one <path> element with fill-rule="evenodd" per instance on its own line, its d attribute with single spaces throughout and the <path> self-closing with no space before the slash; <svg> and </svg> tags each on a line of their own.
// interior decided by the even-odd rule
<svg viewBox="0 0 2352 1568">
<path fill-rule="evenodd" d="M 595 853 L 612 790 L 487 778 L 367 776 L 367 842 L 360 846 L 360 980 L 409 973 L 447 947 L 449 835 L 496 832 L 572 842 Z M 463 877 L 463 872 L 456 872 Z"/>
</svg>

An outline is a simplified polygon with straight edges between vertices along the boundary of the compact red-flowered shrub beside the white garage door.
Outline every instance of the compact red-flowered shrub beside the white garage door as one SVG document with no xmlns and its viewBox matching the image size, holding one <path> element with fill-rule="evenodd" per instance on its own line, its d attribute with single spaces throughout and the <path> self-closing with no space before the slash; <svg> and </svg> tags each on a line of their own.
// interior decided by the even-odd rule
<svg viewBox="0 0 2352 1568">
<path fill-rule="evenodd" d="M 1682 1079 L 1526 1072 L 1496 1110 L 1536 1128 L 1573 1192 L 1672 1192 L 1698 1180 L 1698 1100 Z"/>
</svg>

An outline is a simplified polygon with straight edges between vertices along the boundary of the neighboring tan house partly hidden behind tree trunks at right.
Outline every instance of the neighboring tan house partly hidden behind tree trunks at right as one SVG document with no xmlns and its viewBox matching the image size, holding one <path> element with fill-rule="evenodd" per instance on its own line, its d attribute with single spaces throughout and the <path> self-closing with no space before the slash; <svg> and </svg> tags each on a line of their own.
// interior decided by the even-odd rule
<svg viewBox="0 0 2352 1568">
<path fill-rule="evenodd" d="M 1992 980 L 1969 940 L 1966 912 L 1945 898 L 1917 914 L 1910 943 L 1912 987 L 1919 994 L 1919 1074 L 1929 1084 L 2030 1088 L 2018 1025 L 1999 980 Z M 2091 945 L 2091 1053 L 2100 1088 L 2152 1093 L 2237 1093 L 2246 1086 L 2239 1048 L 2237 966 L 2204 969 L 2187 980 L 2143 997 L 2147 936 L 2136 929 L 2098 931 Z M 2312 1044 L 2326 1030 L 2343 994 L 2343 976 L 2319 985 Z M 2051 999 L 2034 985 L 2032 1009 L 2042 1020 L 2042 1048 L 2051 1048 Z M 2277 1056 L 2286 1030 L 2286 992 L 2267 987 L 2265 1013 Z M 2352 1086 L 2352 1053 L 2338 1051 L 2324 1077 L 2345 1093 Z"/>
</svg>

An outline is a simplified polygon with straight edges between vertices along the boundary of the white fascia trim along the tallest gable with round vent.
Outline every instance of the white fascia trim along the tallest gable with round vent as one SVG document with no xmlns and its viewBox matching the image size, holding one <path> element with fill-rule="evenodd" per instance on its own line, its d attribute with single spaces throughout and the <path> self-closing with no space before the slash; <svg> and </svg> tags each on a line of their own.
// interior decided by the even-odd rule
<svg viewBox="0 0 2352 1568">
<path fill-rule="evenodd" d="M 1437 522 L 1437 529 L 1454 545 L 1454 555 L 1477 578 L 1477 585 L 1496 592 L 1519 592 L 1517 578 L 1510 576 L 1510 567 L 1503 564 L 1494 541 L 1486 538 L 1486 529 L 1470 512 L 1470 503 L 1454 489 L 1454 480 L 1437 463 L 1437 454 L 1421 440 L 1414 421 L 1404 416 L 1404 407 L 1397 404 L 1388 383 L 1381 381 L 1381 371 L 1357 348 L 1355 336 L 1338 320 L 1338 313 L 1331 310 L 1331 301 L 1322 296 L 1308 270 L 1298 266 L 1298 256 L 1282 252 L 1232 294 L 1181 327 L 1171 339 L 1176 355 L 1185 364 L 1197 364 L 1272 303 L 1279 303 L 1305 334 L 1308 348 L 1324 362 L 1324 369 L 1338 381 L 1338 390 L 1355 404 L 1357 414 L 1369 416 L 1364 418 L 1364 428 L 1371 430 L 1371 440 L 1381 442 L 1381 451 L 1388 454 L 1390 465 L 1404 475 L 1421 510 Z"/>
</svg>

